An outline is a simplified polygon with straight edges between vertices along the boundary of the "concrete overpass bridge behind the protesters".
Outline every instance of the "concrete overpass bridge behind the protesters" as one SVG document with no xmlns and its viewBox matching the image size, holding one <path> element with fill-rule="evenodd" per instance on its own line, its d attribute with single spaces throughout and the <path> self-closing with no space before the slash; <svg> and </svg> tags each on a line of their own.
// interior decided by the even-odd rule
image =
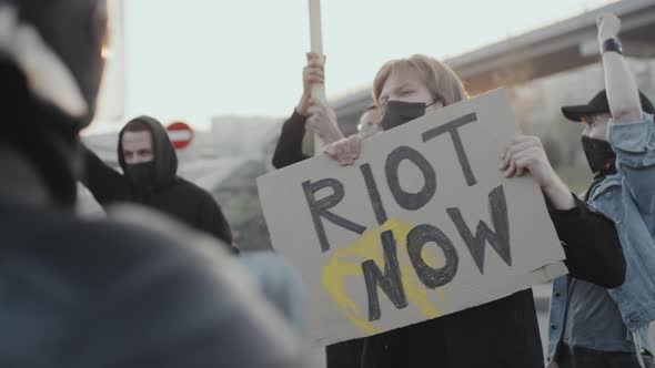
<svg viewBox="0 0 655 368">
<path fill-rule="evenodd" d="M 451 58 L 446 63 L 472 95 L 596 63 L 596 18 L 606 12 L 622 20 L 626 55 L 655 57 L 655 0 L 623 0 Z M 360 114 L 371 104 L 370 88 L 333 101 L 344 134 L 356 131 Z"/>
</svg>

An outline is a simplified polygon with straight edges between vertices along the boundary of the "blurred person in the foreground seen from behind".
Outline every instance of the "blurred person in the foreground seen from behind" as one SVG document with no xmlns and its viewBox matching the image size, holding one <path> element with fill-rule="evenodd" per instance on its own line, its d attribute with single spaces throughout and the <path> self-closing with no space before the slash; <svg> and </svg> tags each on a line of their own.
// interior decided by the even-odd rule
<svg viewBox="0 0 655 368">
<path fill-rule="evenodd" d="M 105 19 L 103 0 L 0 0 L 0 366 L 304 367 L 215 239 L 142 208 L 74 213 Z"/>
</svg>

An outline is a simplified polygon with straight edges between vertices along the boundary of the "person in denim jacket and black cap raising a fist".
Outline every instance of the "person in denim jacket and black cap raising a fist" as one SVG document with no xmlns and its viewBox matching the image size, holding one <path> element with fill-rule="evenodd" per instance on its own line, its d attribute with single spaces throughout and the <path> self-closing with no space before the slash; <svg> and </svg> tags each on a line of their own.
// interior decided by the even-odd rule
<svg viewBox="0 0 655 368">
<path fill-rule="evenodd" d="M 655 319 L 655 109 L 622 57 L 619 28 L 614 16 L 598 21 L 606 90 L 562 111 L 585 125 L 582 143 L 594 172 L 585 201 L 616 224 L 626 279 L 612 289 L 571 276 L 554 282 L 550 367 L 655 367 L 648 337 Z"/>
</svg>

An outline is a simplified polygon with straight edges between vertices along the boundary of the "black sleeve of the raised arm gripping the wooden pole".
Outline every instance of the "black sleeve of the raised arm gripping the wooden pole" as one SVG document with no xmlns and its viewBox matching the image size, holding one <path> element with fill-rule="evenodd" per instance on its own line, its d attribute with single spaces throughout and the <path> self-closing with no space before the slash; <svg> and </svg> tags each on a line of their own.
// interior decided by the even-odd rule
<svg viewBox="0 0 655 368">
<path fill-rule="evenodd" d="M 308 116 L 293 114 L 282 125 L 282 134 L 273 153 L 273 166 L 275 168 L 286 167 L 299 163 L 310 156 L 302 153 L 302 140 L 305 135 L 305 122 Z"/>
</svg>

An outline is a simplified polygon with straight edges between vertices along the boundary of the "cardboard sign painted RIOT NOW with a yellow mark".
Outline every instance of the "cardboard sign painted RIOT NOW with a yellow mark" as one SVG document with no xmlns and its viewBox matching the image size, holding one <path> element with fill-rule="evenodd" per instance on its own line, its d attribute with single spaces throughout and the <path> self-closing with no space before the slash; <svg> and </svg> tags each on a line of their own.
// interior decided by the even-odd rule
<svg viewBox="0 0 655 368">
<path fill-rule="evenodd" d="M 259 178 L 275 249 L 303 277 L 320 344 L 498 299 L 566 273 L 541 191 L 504 178 L 518 134 L 502 90 Z"/>
</svg>

